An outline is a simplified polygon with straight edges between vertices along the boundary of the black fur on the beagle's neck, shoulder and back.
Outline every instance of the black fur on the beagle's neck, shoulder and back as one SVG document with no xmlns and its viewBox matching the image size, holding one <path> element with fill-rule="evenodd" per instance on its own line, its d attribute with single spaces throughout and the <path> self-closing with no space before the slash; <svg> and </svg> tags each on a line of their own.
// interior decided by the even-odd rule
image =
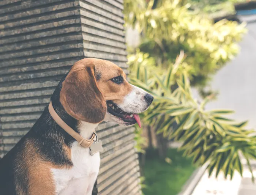
<svg viewBox="0 0 256 195">
<path fill-rule="evenodd" d="M 52 94 L 51 101 L 60 118 L 62 118 L 68 126 L 74 129 L 74 131 L 78 132 L 78 121 L 68 115 L 60 103 L 60 90 L 66 75 L 60 80 Z M 57 166 L 72 165 L 71 160 L 66 156 L 66 153 L 63 150 L 63 144 L 70 147 L 71 143 L 75 140 L 58 126 L 51 117 L 48 106 L 46 106 L 44 112 L 36 121 L 32 129 L 0 160 L 1 195 L 16 195 L 17 192 L 15 189 L 17 183 L 19 183 L 19 186 L 23 187 L 22 191 L 24 191 L 25 194 L 28 193 L 29 175 L 26 169 L 21 170 L 21 165 L 25 164 L 25 162 L 22 162 L 22 156 L 20 155 L 22 154 L 22 151 L 25 150 L 25 142 L 27 140 L 33 140 L 33 147 L 38 154 L 41 154 L 40 156 L 42 156 L 44 160 Z"/>
</svg>

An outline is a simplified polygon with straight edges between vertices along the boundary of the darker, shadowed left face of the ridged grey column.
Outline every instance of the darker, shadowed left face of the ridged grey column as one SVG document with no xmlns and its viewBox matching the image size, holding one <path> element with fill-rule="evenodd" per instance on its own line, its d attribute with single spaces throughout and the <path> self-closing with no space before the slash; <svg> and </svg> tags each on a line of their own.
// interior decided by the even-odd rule
<svg viewBox="0 0 256 195">
<path fill-rule="evenodd" d="M 60 78 L 84 57 L 79 2 L 1 1 L 0 156 L 25 135 Z"/>
</svg>

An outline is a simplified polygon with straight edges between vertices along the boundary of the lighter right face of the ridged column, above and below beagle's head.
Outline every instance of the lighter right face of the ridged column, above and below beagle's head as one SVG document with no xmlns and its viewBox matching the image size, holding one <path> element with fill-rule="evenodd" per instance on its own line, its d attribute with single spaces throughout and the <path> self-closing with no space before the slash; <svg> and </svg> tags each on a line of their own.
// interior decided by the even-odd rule
<svg viewBox="0 0 256 195">
<path fill-rule="evenodd" d="M 123 1 L 79 0 L 79 5 L 84 56 L 110 60 L 128 74 Z M 133 131 L 133 127 L 125 128 L 112 123 L 98 127 L 104 151 L 101 153 L 101 168 L 93 194 L 141 194 Z"/>
</svg>

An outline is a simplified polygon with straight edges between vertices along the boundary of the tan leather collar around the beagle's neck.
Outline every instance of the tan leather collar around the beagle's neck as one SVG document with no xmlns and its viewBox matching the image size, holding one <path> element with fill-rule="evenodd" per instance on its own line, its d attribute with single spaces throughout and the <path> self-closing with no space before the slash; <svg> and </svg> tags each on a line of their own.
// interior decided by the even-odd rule
<svg viewBox="0 0 256 195">
<path fill-rule="evenodd" d="M 52 102 L 50 102 L 49 106 L 48 106 L 50 115 L 52 116 L 52 118 L 54 119 L 54 121 L 60 126 L 62 127 L 62 129 L 64 129 L 68 134 L 71 135 L 71 137 L 73 137 L 81 146 L 84 146 L 85 148 L 89 148 L 93 142 L 94 142 L 94 138 L 96 136 L 95 133 L 93 133 L 92 137 L 87 140 L 85 138 L 83 138 L 81 135 L 79 135 L 77 132 L 75 132 L 70 126 L 68 126 L 61 118 L 60 116 L 58 116 L 58 114 L 55 112 L 53 106 L 52 106 Z"/>
</svg>

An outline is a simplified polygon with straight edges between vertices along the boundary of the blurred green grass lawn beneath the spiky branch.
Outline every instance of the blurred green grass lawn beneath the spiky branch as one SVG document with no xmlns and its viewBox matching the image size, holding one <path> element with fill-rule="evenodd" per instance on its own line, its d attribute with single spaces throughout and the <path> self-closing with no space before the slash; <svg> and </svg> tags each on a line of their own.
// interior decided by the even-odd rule
<svg viewBox="0 0 256 195">
<path fill-rule="evenodd" d="M 182 152 L 177 149 L 169 149 L 168 157 L 171 164 L 160 160 L 156 151 L 147 152 L 142 167 L 146 184 L 142 189 L 144 195 L 177 195 L 196 169 L 191 165 L 191 159 L 182 157 Z"/>
</svg>

